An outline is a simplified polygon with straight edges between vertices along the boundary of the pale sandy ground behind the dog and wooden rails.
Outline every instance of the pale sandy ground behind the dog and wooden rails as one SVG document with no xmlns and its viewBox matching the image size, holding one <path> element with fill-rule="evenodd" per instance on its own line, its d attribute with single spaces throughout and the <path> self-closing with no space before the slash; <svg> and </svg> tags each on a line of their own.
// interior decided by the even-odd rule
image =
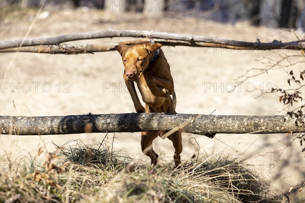
<svg viewBox="0 0 305 203">
<path fill-rule="evenodd" d="M 36 12 L 12 12 L 2 15 L 1 41 L 22 39 Z M 194 18 L 151 17 L 145 14 L 120 13 L 85 9 L 70 12 L 43 12 L 28 33 L 28 38 L 55 37 L 73 32 L 108 29 L 154 30 L 187 33 L 206 37 L 219 37 L 240 41 L 282 42 L 296 38 L 284 29 L 252 27 L 248 22 L 220 24 Z M 304 33 L 296 31 L 302 38 Z M 130 38 L 86 40 L 76 43 L 117 43 Z M 72 44 L 73 44 L 72 43 Z M 280 59 L 279 54 L 299 54 L 295 51 L 238 51 L 214 48 L 163 47 L 171 65 L 175 82 L 178 113 L 215 115 L 278 115 L 284 106 L 279 94 L 260 95 L 253 85 L 262 90 L 272 86 L 287 87 L 287 70 L 278 69 L 251 78 L 232 90 L 237 77 L 253 67 L 264 67 L 258 59 Z M 61 55 L 39 53 L 2 53 L 1 115 L 55 116 L 135 112 L 132 100 L 124 85 L 123 64 L 117 52 Z M 304 60 L 303 58 L 296 58 Z M 303 64 L 293 67 L 295 73 Z M 5 78 L 4 78 L 5 76 Z M 10 88 L 4 89 L 8 84 Z M 19 85 L 19 86 L 18 86 Z M 14 87 L 13 87 L 14 86 Z M 30 88 L 30 89 L 29 89 Z M 51 89 L 50 89 L 51 88 Z M 14 90 L 14 91 L 12 91 Z M 302 90 L 302 95 L 304 91 Z M 80 139 L 86 144 L 99 142 L 107 136 L 114 148 L 126 150 L 131 157 L 149 161 L 140 149 L 140 133 L 94 133 L 56 136 L 1 135 L 1 164 L 7 164 L 6 154 L 37 154 L 39 146 L 48 149 Z M 230 155 L 248 162 L 255 170 L 271 181 L 272 190 L 282 194 L 291 186 L 304 182 L 304 154 L 298 140 L 286 134 L 217 134 L 208 139 L 184 133 L 184 151 L 181 159 L 188 160 L 198 151 L 209 158 Z M 173 147 L 169 140 L 157 139 L 154 148 L 162 160 L 172 160 Z M 284 150 L 285 149 L 285 150 Z M 284 151 L 283 151 L 284 150 Z M 304 193 L 302 193 L 303 195 Z"/>
</svg>

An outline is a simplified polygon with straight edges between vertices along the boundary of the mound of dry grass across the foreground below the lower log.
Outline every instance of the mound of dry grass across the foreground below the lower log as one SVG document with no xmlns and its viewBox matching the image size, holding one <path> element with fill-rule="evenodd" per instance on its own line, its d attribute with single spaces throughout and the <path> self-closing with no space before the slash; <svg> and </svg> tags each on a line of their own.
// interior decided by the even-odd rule
<svg viewBox="0 0 305 203">
<path fill-rule="evenodd" d="M 148 173 L 149 164 L 136 163 L 104 141 L 76 140 L 45 158 L 42 163 L 23 158 L 28 167 L 22 172 L 2 172 L 0 202 L 279 202 L 269 198 L 266 182 L 229 157 L 201 158 L 181 168 L 168 163 Z"/>
</svg>

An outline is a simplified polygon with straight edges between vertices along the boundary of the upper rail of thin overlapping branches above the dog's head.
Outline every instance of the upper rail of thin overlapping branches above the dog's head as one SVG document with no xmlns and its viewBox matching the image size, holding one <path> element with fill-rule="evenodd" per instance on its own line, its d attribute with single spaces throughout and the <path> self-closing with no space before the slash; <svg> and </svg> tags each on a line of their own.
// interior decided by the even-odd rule
<svg viewBox="0 0 305 203">
<path fill-rule="evenodd" d="M 2 52 L 37 52 L 37 53 L 93 53 L 100 51 L 114 50 L 114 44 L 81 44 L 73 45 L 67 42 L 88 39 L 133 37 L 149 38 L 164 46 L 191 46 L 191 47 L 216 47 L 226 49 L 246 49 L 246 50 L 271 50 L 271 49 L 291 49 L 305 50 L 305 39 L 294 42 L 279 42 L 274 40 L 269 43 L 242 42 L 234 40 L 220 39 L 216 37 L 203 37 L 196 35 L 183 35 L 177 33 L 140 31 L 140 30 L 104 30 L 95 32 L 72 33 L 53 38 L 21 39 L 0 42 L 0 53 Z M 65 44 L 62 44 L 65 43 Z M 25 48 L 27 47 L 27 48 Z"/>
</svg>

